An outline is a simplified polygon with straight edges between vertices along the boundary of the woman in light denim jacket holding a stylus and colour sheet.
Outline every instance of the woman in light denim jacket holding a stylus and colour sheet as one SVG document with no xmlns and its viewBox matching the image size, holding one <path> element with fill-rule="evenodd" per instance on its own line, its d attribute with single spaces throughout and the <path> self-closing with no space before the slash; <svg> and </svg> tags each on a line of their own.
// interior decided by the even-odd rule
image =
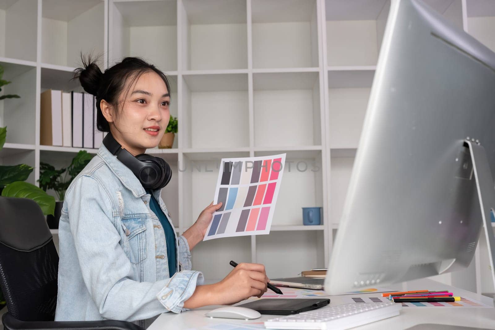
<svg viewBox="0 0 495 330">
<path fill-rule="evenodd" d="M 260 264 L 239 264 L 221 282 L 200 285 L 203 276 L 191 270 L 190 250 L 221 203 L 210 203 L 177 237 L 160 197 L 163 184 L 150 189 L 129 165 L 143 164 L 149 156 L 141 154 L 158 145 L 168 125 L 165 75 L 127 57 L 104 73 L 91 59 L 83 60 L 75 77 L 96 96 L 97 127 L 109 134 L 65 195 L 55 320 L 113 319 L 147 328 L 160 313 L 233 304 L 266 292 Z M 122 149 L 130 153 L 127 160 L 120 157 Z"/>
</svg>

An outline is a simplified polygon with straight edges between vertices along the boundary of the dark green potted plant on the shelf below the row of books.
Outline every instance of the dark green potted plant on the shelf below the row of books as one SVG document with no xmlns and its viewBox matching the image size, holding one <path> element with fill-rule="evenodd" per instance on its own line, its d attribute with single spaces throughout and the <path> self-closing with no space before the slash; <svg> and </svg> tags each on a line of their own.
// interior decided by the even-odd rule
<svg viewBox="0 0 495 330">
<path fill-rule="evenodd" d="M 40 162 L 40 180 L 38 180 L 40 188 L 44 191 L 53 189 L 57 195 L 54 214 L 47 216 L 49 228 L 58 228 L 58 220 L 60 220 L 65 191 L 69 188 L 72 180 L 88 165 L 92 158 L 93 155 L 85 150 L 80 150 L 67 168 L 61 168 L 59 170 L 56 170 L 50 164 Z"/>
</svg>

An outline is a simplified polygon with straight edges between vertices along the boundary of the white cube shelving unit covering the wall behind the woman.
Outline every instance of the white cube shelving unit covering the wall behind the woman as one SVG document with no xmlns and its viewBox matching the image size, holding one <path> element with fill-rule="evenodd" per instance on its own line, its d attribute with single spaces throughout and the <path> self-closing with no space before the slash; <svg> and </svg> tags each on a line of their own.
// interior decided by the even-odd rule
<svg viewBox="0 0 495 330">
<path fill-rule="evenodd" d="M 426 2 L 495 50 L 494 1 Z M 0 101 L 8 130 L 0 164 L 33 166 L 33 184 L 40 161 L 67 166 L 79 148 L 39 143 L 40 93 L 81 90 L 69 81 L 80 51 L 102 54 L 102 68 L 142 56 L 168 75 L 179 119 L 173 148 L 147 150 L 172 166 L 162 197 L 179 234 L 213 199 L 221 158 L 287 153 L 272 233 L 202 242 L 194 268 L 211 282 L 231 270 L 229 260 L 266 263 L 270 277 L 327 266 L 389 7 L 389 0 L 1 1 L 0 63 L 12 81 L 5 93 L 21 98 Z M 302 226 L 306 206 L 323 208 L 322 225 Z"/>
</svg>

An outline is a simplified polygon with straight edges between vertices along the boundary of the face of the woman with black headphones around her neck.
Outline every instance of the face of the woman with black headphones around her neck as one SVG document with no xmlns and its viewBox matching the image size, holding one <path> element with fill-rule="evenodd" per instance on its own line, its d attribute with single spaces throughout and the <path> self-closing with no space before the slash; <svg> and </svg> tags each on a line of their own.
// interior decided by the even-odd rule
<svg viewBox="0 0 495 330">
<path fill-rule="evenodd" d="M 111 127 L 115 140 L 134 156 L 156 147 L 170 119 L 170 94 L 160 76 L 153 71 L 142 74 L 127 95 L 120 95 L 119 104 Z"/>
</svg>

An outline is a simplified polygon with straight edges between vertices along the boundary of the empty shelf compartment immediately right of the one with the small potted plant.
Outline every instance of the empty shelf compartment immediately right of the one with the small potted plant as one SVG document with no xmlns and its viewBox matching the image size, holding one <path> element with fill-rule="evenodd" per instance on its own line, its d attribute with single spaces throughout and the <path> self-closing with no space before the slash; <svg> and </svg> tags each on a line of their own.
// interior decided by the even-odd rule
<svg viewBox="0 0 495 330">
<path fill-rule="evenodd" d="M 247 74 L 184 75 L 184 148 L 249 146 Z M 205 139 L 208 137 L 208 139 Z"/>
</svg>

